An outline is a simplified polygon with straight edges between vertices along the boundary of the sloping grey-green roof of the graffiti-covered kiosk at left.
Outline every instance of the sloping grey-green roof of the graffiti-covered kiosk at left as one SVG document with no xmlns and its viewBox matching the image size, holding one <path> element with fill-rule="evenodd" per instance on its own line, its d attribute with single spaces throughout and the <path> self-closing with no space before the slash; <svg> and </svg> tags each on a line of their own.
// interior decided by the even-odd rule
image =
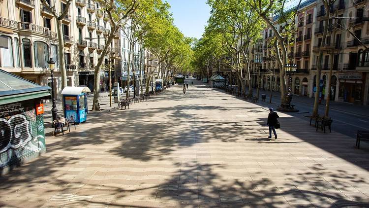
<svg viewBox="0 0 369 208">
<path fill-rule="evenodd" d="M 0 69 L 0 104 L 31 99 L 51 99 L 49 86 L 40 86 Z"/>
</svg>

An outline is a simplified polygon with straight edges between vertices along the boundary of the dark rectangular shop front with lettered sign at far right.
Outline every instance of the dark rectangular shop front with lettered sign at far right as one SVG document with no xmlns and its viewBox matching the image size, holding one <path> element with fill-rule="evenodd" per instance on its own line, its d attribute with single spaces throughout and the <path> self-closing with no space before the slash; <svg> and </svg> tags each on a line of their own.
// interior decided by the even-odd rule
<svg viewBox="0 0 369 208">
<path fill-rule="evenodd" d="M 361 72 L 340 72 L 338 74 L 338 101 L 363 104 L 365 77 Z"/>
</svg>

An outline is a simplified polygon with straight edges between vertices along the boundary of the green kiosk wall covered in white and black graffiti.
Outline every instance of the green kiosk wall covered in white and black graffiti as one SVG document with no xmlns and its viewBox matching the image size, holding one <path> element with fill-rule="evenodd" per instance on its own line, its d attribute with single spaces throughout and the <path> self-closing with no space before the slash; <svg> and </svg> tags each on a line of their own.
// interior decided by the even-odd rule
<svg viewBox="0 0 369 208">
<path fill-rule="evenodd" d="M 0 107 L 1 168 L 10 163 L 18 163 L 44 146 L 38 142 L 37 123 L 35 109 L 30 104 L 17 103 Z"/>
</svg>

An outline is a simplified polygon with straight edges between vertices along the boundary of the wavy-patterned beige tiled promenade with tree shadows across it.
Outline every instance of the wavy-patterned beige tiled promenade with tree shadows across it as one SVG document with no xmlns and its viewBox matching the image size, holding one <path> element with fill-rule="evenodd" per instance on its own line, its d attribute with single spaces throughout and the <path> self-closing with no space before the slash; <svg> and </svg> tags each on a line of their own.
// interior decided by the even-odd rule
<svg viewBox="0 0 369 208">
<path fill-rule="evenodd" d="M 368 207 L 369 145 L 204 85 L 91 112 L 1 177 L 0 207 Z"/>
</svg>

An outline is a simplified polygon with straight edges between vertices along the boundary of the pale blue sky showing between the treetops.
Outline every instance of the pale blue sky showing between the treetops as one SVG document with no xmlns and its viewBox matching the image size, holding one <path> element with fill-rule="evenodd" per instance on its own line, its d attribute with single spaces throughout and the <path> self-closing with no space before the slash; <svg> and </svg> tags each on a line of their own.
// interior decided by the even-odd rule
<svg viewBox="0 0 369 208">
<path fill-rule="evenodd" d="M 173 13 L 174 24 L 187 37 L 200 38 L 210 16 L 206 0 L 166 0 Z M 297 5 L 299 0 L 290 0 L 286 7 Z M 304 2 L 305 0 L 302 0 Z"/>
</svg>

